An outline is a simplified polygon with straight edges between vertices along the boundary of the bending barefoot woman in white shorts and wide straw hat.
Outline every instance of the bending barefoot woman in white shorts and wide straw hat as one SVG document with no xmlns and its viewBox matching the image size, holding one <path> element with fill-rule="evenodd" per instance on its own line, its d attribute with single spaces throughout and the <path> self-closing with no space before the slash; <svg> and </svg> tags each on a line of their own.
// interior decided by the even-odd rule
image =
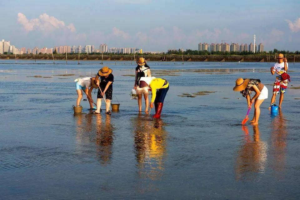
<svg viewBox="0 0 300 200">
<path fill-rule="evenodd" d="M 268 89 L 264 86 L 259 79 L 242 79 L 238 78 L 235 81 L 235 87 L 233 91 L 240 91 L 242 96 L 247 99 L 248 108 L 251 108 L 252 103 L 254 102 L 254 116 L 250 121 L 252 125 L 258 124 L 258 119 L 260 115 L 260 105 L 263 100 L 268 98 Z M 255 92 L 255 95 L 250 98 L 251 92 Z"/>
</svg>

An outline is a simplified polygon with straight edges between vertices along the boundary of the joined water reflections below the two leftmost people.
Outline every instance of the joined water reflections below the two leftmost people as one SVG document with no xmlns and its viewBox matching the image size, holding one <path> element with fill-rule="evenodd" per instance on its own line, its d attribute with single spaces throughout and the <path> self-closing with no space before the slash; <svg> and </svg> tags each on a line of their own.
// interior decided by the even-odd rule
<svg viewBox="0 0 300 200">
<path fill-rule="evenodd" d="M 74 117 L 76 119 L 76 139 L 81 151 L 90 152 L 89 144 L 93 142 L 96 144 L 96 159 L 101 164 L 110 163 L 114 137 L 111 116 L 76 114 Z M 95 123 L 93 123 L 94 120 Z"/>
</svg>

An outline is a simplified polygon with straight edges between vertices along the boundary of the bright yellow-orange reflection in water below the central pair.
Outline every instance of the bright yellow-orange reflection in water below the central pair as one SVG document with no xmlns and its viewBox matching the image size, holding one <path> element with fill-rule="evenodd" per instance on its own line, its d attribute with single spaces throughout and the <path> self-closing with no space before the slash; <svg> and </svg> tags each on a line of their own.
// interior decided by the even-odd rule
<svg viewBox="0 0 300 200">
<path fill-rule="evenodd" d="M 162 119 L 155 121 L 133 118 L 134 148 L 138 174 L 142 178 L 159 179 L 164 170 L 166 136 Z"/>
</svg>

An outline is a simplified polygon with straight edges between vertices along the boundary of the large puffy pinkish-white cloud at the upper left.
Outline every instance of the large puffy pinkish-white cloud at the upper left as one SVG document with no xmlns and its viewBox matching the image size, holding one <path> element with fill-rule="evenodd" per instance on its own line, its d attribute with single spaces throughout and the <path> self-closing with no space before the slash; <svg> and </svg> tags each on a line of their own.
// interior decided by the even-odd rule
<svg viewBox="0 0 300 200">
<path fill-rule="evenodd" d="M 39 18 L 34 18 L 28 20 L 27 17 L 19 12 L 18 13 L 18 22 L 23 25 L 26 31 L 54 31 L 55 29 L 63 29 L 67 28 L 71 32 L 75 32 L 76 29 L 74 25 L 71 23 L 67 27 L 65 27 L 65 22 L 53 17 L 49 16 L 46 13 L 43 13 L 39 16 Z"/>
</svg>

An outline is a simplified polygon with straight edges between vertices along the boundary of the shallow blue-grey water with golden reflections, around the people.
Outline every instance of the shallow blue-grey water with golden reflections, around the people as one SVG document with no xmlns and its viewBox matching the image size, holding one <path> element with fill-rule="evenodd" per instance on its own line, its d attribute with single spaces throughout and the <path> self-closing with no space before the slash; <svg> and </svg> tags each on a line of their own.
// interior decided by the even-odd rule
<svg viewBox="0 0 300 200">
<path fill-rule="evenodd" d="M 154 121 L 140 120 L 145 114 L 130 100 L 134 77 L 122 75 L 134 74 L 131 62 L 104 63 L 113 69 L 121 104 L 111 116 L 89 114 L 85 101 L 83 113 L 71 109 L 73 80 L 94 76 L 99 61 L 0 63 L 1 199 L 300 198 L 300 100 L 294 99 L 300 90 L 288 89 L 281 112 L 272 116 L 272 86 L 266 85 L 259 125 L 240 125 L 247 104 L 232 91 L 235 80 L 272 84 L 267 63 L 149 62 L 153 70 L 178 71 L 156 75 L 170 90 L 162 119 Z M 299 66 L 290 63 L 289 87 L 300 85 Z M 29 77 L 35 75 L 53 78 Z M 216 93 L 178 96 L 199 91 Z"/>
</svg>

